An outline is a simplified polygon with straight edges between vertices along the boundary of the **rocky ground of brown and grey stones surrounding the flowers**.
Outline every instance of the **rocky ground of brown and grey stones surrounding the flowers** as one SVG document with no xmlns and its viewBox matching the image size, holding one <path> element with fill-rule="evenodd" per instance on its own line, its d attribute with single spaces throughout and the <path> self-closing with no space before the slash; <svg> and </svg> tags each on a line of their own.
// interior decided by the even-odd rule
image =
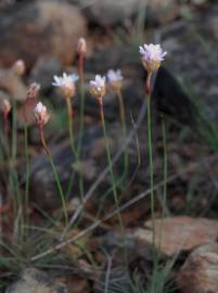
<svg viewBox="0 0 218 293">
<path fill-rule="evenodd" d="M 70 231 L 73 241 L 64 242 L 60 239 L 61 221 L 51 230 L 50 216 L 57 214 L 61 201 L 34 124 L 30 110 L 35 104 L 30 104 L 28 213 L 31 226 L 44 228 L 44 231 L 33 228 L 23 246 L 16 243 L 4 180 L 8 170 L 4 162 L 0 162 L 0 238 L 7 240 L 10 247 L 2 246 L 0 251 L 0 292 L 218 292 L 217 15 L 216 1 L 206 0 L 0 1 L 0 103 L 4 99 L 17 100 L 15 167 L 18 183 L 24 189 L 22 104 L 28 85 L 36 81 L 41 85 L 40 99 L 53 111 L 46 137 L 61 183 L 67 191 L 72 173 L 76 182 L 81 176 L 85 194 L 89 199 L 80 222 Z M 85 64 L 85 133 L 78 164 L 70 151 L 66 122 L 61 118 L 64 103 L 51 82 L 54 74 L 77 69 L 76 43 L 79 37 L 87 39 L 88 54 Z M 155 232 L 152 230 L 148 195 L 148 143 L 143 113 L 145 72 L 138 54 L 140 38 L 143 42 L 159 42 L 168 52 L 164 66 L 157 73 L 152 97 Z M 18 59 L 26 64 L 24 76 L 14 71 L 14 62 Z M 105 74 L 110 68 L 120 68 L 125 77 L 123 95 L 130 138 L 126 149 L 129 166 L 125 181 L 118 187 L 124 205 L 124 234 L 116 213 L 113 214 L 114 204 L 105 195 L 110 175 L 108 170 L 105 171 L 103 132 L 98 104 L 88 92 L 88 81 L 97 73 Z M 75 133 L 79 127 L 79 106 L 76 97 Z M 112 156 L 116 157 L 115 174 L 121 178 L 124 155 L 119 150 L 124 140 L 119 106 L 113 92 L 106 93 L 104 109 Z M 167 126 L 166 204 L 162 195 L 163 122 Z M 68 190 L 67 200 L 72 216 L 80 204 L 78 184 Z M 75 243 L 74 238 L 80 235 L 80 231 L 86 231 L 98 218 L 104 219 L 105 216 L 104 221 L 78 237 Z M 51 253 L 40 257 L 40 253 L 48 250 L 52 250 Z M 158 279 L 155 291 L 149 291 L 154 250 L 159 257 L 158 271 L 166 277 L 164 281 Z M 127 252 L 128 259 L 124 252 Z M 5 265 L 7 259 L 11 262 L 10 266 Z M 130 285 L 129 279 L 134 282 L 136 278 L 144 291 L 136 291 Z"/>
</svg>

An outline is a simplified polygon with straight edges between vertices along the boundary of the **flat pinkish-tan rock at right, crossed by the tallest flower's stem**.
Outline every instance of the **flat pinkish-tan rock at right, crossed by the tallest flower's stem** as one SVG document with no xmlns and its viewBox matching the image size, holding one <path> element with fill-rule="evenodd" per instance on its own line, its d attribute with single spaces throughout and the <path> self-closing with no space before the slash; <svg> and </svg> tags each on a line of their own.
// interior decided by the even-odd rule
<svg viewBox="0 0 218 293">
<path fill-rule="evenodd" d="M 139 242 L 152 244 L 152 221 L 145 222 L 146 229 L 139 228 L 134 238 Z M 206 218 L 174 217 L 155 220 L 155 243 L 164 255 L 172 256 L 189 252 L 200 245 L 215 242 L 218 238 L 218 221 Z"/>
</svg>

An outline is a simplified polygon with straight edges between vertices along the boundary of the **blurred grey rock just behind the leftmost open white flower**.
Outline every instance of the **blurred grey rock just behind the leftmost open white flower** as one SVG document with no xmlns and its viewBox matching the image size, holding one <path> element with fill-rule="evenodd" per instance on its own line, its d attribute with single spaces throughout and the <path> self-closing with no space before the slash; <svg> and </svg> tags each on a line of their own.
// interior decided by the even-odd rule
<svg viewBox="0 0 218 293">
<path fill-rule="evenodd" d="M 53 76 L 60 75 L 62 71 L 63 66 L 56 58 L 40 56 L 31 69 L 29 81 L 38 82 L 41 90 L 47 91 L 52 87 Z"/>
</svg>

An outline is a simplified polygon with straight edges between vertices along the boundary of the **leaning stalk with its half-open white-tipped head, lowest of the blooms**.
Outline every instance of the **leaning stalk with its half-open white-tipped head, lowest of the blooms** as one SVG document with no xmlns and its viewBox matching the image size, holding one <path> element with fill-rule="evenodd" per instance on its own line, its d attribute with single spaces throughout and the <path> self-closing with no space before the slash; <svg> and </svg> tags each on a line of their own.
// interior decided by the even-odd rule
<svg viewBox="0 0 218 293">
<path fill-rule="evenodd" d="M 42 103 L 38 103 L 36 105 L 36 107 L 35 107 L 35 118 L 36 118 L 36 123 L 38 125 L 42 146 L 43 146 L 46 155 L 47 155 L 47 157 L 48 157 L 48 160 L 49 160 L 49 162 L 51 164 L 52 171 L 53 171 L 53 175 L 54 175 L 54 179 L 56 181 L 57 190 L 59 190 L 61 201 L 62 201 L 62 207 L 63 207 L 64 217 L 65 217 L 65 225 L 67 226 L 67 224 L 68 224 L 68 215 L 67 215 L 67 208 L 66 208 L 66 201 L 65 201 L 64 192 L 63 192 L 63 189 L 62 189 L 62 186 L 61 186 L 60 177 L 59 177 L 56 167 L 54 165 L 51 152 L 50 152 L 49 146 L 47 144 L 47 141 L 44 139 L 43 127 L 49 120 L 49 113 L 47 111 L 47 107 L 44 105 L 42 105 Z"/>
</svg>

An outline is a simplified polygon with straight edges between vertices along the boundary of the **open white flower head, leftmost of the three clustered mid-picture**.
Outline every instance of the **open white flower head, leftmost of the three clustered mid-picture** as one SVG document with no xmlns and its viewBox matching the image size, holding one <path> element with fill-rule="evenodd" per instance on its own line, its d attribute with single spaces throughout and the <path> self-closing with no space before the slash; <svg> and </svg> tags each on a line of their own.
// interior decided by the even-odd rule
<svg viewBox="0 0 218 293">
<path fill-rule="evenodd" d="M 63 76 L 54 75 L 54 81 L 52 85 L 54 87 L 59 87 L 64 98 L 72 98 L 75 95 L 76 87 L 75 82 L 78 80 L 78 76 L 76 74 L 67 75 L 63 73 Z"/>
</svg>

